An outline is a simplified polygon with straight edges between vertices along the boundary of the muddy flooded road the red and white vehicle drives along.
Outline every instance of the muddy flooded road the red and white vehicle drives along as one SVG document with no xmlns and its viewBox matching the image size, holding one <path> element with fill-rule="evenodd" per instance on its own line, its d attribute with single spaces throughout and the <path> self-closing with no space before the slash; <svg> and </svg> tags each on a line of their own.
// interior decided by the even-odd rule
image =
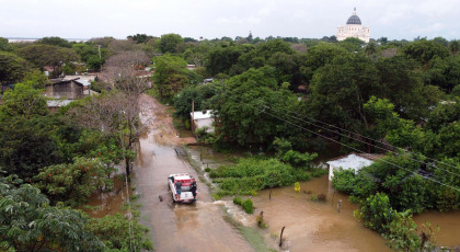
<svg viewBox="0 0 460 252">
<path fill-rule="evenodd" d="M 212 202 L 207 186 L 198 182 L 198 202 L 173 204 L 166 177 L 171 173 L 197 173 L 186 160 L 177 157 L 174 147 L 194 138 L 179 138 L 165 107 L 142 95 L 141 119 L 151 125 L 140 139 L 133 185 L 140 193 L 141 222 L 149 227 L 157 251 L 253 251 L 245 239 L 226 221 L 225 213 Z M 159 196 L 163 202 L 160 202 Z"/>
</svg>

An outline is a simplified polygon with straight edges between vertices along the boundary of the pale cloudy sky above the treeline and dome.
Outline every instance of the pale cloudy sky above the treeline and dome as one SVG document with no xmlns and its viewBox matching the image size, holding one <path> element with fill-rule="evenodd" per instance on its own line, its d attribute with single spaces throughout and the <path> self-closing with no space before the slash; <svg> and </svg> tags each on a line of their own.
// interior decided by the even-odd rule
<svg viewBox="0 0 460 252">
<path fill-rule="evenodd" d="M 0 36 L 323 37 L 357 8 L 371 37 L 460 38 L 457 0 L 0 0 Z"/>
</svg>

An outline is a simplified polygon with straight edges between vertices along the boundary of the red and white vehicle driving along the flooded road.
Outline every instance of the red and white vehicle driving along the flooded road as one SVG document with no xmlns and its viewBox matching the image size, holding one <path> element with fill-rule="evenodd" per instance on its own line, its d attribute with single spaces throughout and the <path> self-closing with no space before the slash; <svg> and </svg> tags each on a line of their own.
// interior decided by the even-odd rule
<svg viewBox="0 0 460 252">
<path fill-rule="evenodd" d="M 188 173 L 169 175 L 168 187 L 174 203 L 196 202 L 196 182 Z"/>
</svg>

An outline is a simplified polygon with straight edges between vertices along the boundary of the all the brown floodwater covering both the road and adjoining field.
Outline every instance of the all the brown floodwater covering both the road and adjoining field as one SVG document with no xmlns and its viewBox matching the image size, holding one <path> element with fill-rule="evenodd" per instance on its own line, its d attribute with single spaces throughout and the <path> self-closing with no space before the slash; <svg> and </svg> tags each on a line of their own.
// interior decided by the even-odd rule
<svg viewBox="0 0 460 252">
<path fill-rule="evenodd" d="M 146 100 L 146 98 L 143 98 Z M 222 154 L 206 147 L 174 149 L 194 139 L 180 138 L 172 127 L 172 121 L 164 107 L 147 98 L 143 101 L 145 119 L 152 118 L 151 130 L 139 142 L 139 156 L 135 163 L 131 185 L 142 204 L 141 222 L 149 227 L 157 251 L 267 251 L 266 245 L 278 251 L 391 251 L 386 240 L 377 232 L 364 228 L 353 216 L 357 205 L 347 196 L 334 193 L 327 176 L 302 182 L 301 193 L 294 187 L 262 191 L 252 197 L 256 208 L 253 215 L 245 214 L 231 197 L 214 201 L 210 180 L 203 175 L 206 168 L 230 164 L 237 158 L 263 154 L 257 150 Z M 338 149 L 331 148 L 320 162 L 337 156 Z M 327 149 L 330 150 L 330 149 Z M 334 153 L 332 153 L 334 152 Z M 191 164 L 192 163 L 192 164 Z M 319 163 L 318 163 L 319 164 Z M 193 168 L 193 167 L 195 168 Z M 197 171 L 199 172 L 197 172 Z M 171 173 L 187 172 L 197 179 L 198 202 L 192 205 L 173 204 L 168 191 L 166 177 Z M 198 180 L 200 176 L 200 180 Z M 209 187 L 210 186 L 210 187 Z M 311 193 L 307 193 L 311 192 Z M 311 195 L 325 194 L 326 202 L 312 202 Z M 93 195 L 90 205 L 99 210 L 90 211 L 94 217 L 114 214 L 120 209 L 131 192 L 126 193 L 123 181 L 115 184 L 115 191 Z M 160 196 L 162 201 L 160 201 Z M 337 201 L 342 199 L 341 211 Z M 256 226 L 256 216 L 263 211 L 268 225 L 266 229 Z M 417 225 L 425 221 L 439 225 L 438 243 L 445 247 L 460 245 L 460 210 L 439 214 L 424 213 L 414 217 Z M 242 228 L 243 227 L 243 228 Z M 284 245 L 278 247 L 281 228 Z M 248 228 L 258 230 L 262 237 L 254 247 L 250 244 Z M 263 249 L 261 249 L 263 248 Z"/>
</svg>

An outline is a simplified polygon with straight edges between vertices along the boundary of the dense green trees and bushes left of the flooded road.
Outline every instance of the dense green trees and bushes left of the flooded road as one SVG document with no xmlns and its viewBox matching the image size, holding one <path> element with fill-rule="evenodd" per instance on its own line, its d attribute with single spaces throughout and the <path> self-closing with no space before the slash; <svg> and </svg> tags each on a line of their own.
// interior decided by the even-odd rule
<svg viewBox="0 0 460 252">
<path fill-rule="evenodd" d="M 92 57 L 100 60 L 93 43 L 49 37 L 2 46 L 9 51 L 0 51 L 1 251 L 153 249 L 146 238 L 148 229 L 139 225 L 139 213 L 130 204 L 102 219 L 82 210 L 93 193 L 113 190 L 115 167 L 124 160 L 129 175 L 135 142 L 143 133 L 137 100 L 147 81 L 131 75 L 114 80 L 110 76 L 113 65 L 107 64 L 101 75 L 107 83 L 112 81 L 111 92 L 74 101 L 56 113 L 48 111 L 48 98 L 43 95 L 49 83 L 43 70 L 53 69 L 51 77 L 83 70 L 76 67 L 84 67 L 77 60 L 87 66 Z M 126 56 L 104 47 L 101 60 L 108 55 Z M 111 58 L 107 62 L 113 64 Z M 133 72 L 129 62 L 119 61 L 118 69 Z"/>
</svg>

